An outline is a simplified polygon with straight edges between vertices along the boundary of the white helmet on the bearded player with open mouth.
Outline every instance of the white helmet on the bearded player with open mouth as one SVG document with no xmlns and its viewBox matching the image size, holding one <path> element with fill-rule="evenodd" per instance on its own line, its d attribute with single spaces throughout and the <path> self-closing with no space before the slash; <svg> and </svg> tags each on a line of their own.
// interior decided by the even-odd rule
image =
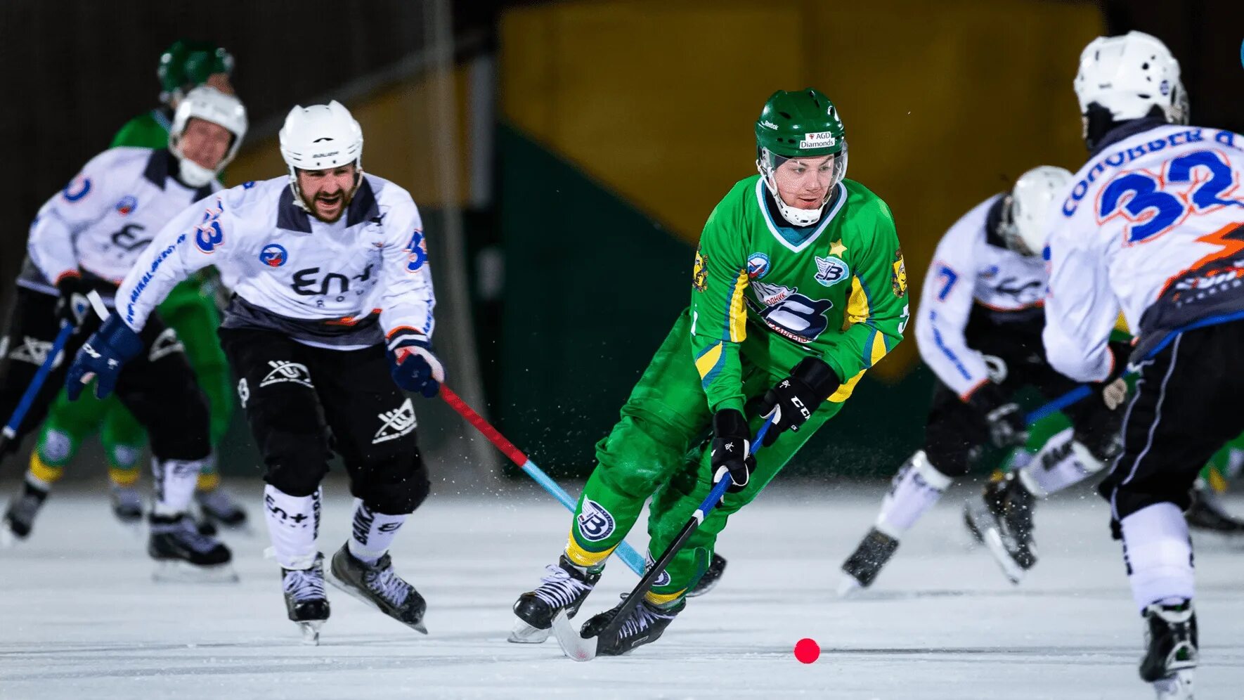
<svg viewBox="0 0 1244 700">
<path fill-rule="evenodd" d="M 363 177 L 363 128 L 350 109 L 333 99 L 327 104 L 294 107 L 281 127 L 281 158 L 290 167 L 294 200 L 306 209 L 296 170 L 326 170 L 351 163 L 357 168 L 355 187 Z"/>
</svg>

